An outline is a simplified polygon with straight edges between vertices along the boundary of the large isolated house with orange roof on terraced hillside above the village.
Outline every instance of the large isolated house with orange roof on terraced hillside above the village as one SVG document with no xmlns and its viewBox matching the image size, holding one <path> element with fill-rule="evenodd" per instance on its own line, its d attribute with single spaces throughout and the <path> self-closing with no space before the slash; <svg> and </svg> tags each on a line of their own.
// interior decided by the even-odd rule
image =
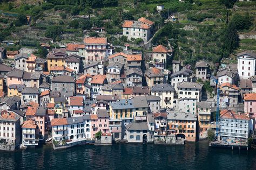
<svg viewBox="0 0 256 170">
<path fill-rule="evenodd" d="M 149 19 L 141 17 L 137 20 L 125 20 L 123 24 L 123 35 L 129 40 L 131 38 L 142 38 L 147 42 L 153 34 L 153 24 Z"/>
</svg>

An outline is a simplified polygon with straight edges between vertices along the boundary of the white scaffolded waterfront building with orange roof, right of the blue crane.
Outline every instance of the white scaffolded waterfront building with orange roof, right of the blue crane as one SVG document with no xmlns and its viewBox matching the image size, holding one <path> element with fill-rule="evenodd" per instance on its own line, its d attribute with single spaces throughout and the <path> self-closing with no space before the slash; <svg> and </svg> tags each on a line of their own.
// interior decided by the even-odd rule
<svg viewBox="0 0 256 170">
<path fill-rule="evenodd" d="M 220 138 L 248 139 L 250 118 L 230 110 L 222 110 L 219 118 Z"/>
</svg>

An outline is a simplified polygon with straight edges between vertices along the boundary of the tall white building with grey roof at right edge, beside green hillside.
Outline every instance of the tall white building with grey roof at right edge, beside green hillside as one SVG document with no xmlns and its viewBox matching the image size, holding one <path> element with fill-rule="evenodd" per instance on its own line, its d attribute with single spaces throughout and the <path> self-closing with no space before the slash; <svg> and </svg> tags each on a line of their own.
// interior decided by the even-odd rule
<svg viewBox="0 0 256 170">
<path fill-rule="evenodd" d="M 240 79 L 248 79 L 255 75 L 256 54 L 251 51 L 238 53 L 237 68 Z"/>
</svg>

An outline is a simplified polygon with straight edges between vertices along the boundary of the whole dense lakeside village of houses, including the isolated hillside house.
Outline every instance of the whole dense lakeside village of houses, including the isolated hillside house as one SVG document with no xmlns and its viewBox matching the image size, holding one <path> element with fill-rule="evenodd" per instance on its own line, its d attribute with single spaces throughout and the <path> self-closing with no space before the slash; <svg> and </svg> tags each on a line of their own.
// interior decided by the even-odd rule
<svg viewBox="0 0 256 170">
<path fill-rule="evenodd" d="M 146 18 L 125 21 L 123 34 L 147 42 L 153 24 Z M 207 61 L 185 66 L 163 45 L 150 56 L 144 62 L 142 52 L 129 45 L 115 53 L 104 37 L 49 50 L 46 59 L 0 47 L 1 61 L 12 61 L 0 63 L 0 150 L 45 141 L 54 149 L 183 145 L 206 139 L 209 131 L 218 137 L 212 146 L 248 146 L 256 127 L 255 53 L 238 53 L 238 64 L 219 67 L 217 76 Z M 214 89 L 211 97 L 205 81 Z"/>
</svg>

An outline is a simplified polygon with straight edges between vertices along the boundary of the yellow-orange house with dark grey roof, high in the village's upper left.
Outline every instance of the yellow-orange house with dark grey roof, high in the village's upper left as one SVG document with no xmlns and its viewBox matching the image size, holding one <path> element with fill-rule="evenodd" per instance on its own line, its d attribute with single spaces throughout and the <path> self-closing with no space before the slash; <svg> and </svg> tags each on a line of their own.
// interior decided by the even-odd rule
<svg viewBox="0 0 256 170">
<path fill-rule="evenodd" d="M 53 66 L 64 66 L 66 56 L 68 56 L 68 54 L 66 54 L 65 49 L 63 49 L 63 48 L 53 49 L 46 56 L 48 70 L 50 71 L 51 67 L 53 67 Z"/>
</svg>

